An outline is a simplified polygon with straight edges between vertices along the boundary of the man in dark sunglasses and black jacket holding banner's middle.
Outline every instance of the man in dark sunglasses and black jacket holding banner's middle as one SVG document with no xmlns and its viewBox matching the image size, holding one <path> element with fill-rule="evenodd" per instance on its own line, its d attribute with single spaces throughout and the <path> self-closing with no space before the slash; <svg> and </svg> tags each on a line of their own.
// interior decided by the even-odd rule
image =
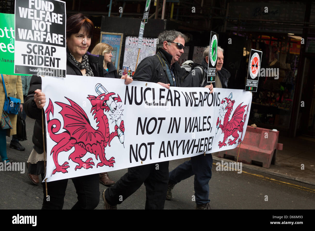
<svg viewBox="0 0 315 231">
<path fill-rule="evenodd" d="M 180 87 L 180 78 L 185 74 L 185 70 L 180 68 L 177 61 L 184 53 L 186 39 L 184 34 L 175 30 L 160 33 L 157 54 L 146 57 L 139 63 L 133 79 L 158 83 L 168 89 L 170 86 Z M 117 204 L 122 203 L 120 198 L 125 200 L 143 183 L 146 186 L 145 208 L 163 209 L 169 183 L 169 162 L 128 168 L 128 173 L 123 175 L 114 186 L 103 191 L 104 208 L 117 209 Z"/>
</svg>

